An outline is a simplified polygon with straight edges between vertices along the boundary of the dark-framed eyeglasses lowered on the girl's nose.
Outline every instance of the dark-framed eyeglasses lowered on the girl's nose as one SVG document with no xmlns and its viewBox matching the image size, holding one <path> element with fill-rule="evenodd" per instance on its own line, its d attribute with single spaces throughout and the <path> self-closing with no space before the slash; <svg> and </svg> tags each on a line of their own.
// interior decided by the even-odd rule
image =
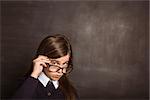
<svg viewBox="0 0 150 100">
<path fill-rule="evenodd" d="M 46 63 L 47 66 L 49 67 L 48 69 L 52 72 L 58 72 L 60 69 L 62 69 L 63 74 L 68 74 L 72 71 L 72 67 L 68 66 L 68 64 L 64 64 L 62 66 L 60 65 L 55 65 L 55 64 L 48 64 Z"/>
</svg>

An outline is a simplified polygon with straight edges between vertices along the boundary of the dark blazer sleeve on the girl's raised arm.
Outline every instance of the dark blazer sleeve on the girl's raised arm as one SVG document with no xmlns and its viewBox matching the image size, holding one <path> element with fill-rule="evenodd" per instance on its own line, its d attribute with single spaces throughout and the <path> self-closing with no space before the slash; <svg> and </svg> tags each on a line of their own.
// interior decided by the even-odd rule
<svg viewBox="0 0 150 100">
<path fill-rule="evenodd" d="M 18 88 L 18 90 L 16 91 L 16 93 L 13 96 L 13 99 L 15 99 L 15 98 L 20 98 L 20 99 L 32 98 L 35 93 L 37 85 L 38 85 L 38 79 L 35 79 L 35 78 L 29 76 L 23 82 L 23 84 Z"/>
</svg>

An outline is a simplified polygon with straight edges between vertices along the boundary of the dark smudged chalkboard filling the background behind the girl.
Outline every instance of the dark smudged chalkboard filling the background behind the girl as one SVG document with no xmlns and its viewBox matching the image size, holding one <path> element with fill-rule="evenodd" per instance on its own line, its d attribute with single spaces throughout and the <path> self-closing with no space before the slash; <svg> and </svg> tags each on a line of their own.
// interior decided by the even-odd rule
<svg viewBox="0 0 150 100">
<path fill-rule="evenodd" d="M 41 40 L 69 37 L 82 99 L 148 100 L 148 1 L 1 1 L 1 97 L 10 98 Z"/>
</svg>

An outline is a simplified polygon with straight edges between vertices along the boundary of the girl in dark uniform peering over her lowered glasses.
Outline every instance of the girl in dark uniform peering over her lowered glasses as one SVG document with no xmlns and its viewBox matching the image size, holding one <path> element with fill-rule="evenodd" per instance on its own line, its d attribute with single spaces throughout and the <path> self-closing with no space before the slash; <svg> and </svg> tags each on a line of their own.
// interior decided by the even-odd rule
<svg viewBox="0 0 150 100">
<path fill-rule="evenodd" d="M 68 39 L 63 35 L 48 36 L 40 43 L 32 70 L 14 97 L 76 100 L 76 90 L 67 76 L 72 69 Z"/>
</svg>

